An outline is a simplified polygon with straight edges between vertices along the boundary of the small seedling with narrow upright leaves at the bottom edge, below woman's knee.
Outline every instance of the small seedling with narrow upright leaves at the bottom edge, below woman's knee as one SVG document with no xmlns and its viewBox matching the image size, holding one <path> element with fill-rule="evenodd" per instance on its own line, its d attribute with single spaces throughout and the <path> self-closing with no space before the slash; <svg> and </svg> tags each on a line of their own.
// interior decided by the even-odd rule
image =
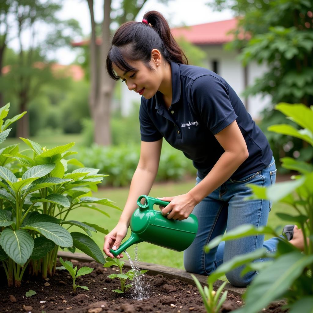
<svg viewBox="0 0 313 313">
<path fill-rule="evenodd" d="M 202 297 L 203 304 L 205 309 L 207 310 L 207 313 L 218 313 L 222 304 L 226 300 L 227 297 L 227 290 L 223 292 L 223 295 L 221 296 L 221 299 L 218 300 L 219 296 L 221 295 L 221 292 L 223 288 L 226 285 L 226 281 L 220 285 L 217 291 L 213 290 L 213 283 L 209 283 L 209 288 L 207 286 L 204 286 L 202 288 L 199 280 L 196 278 L 195 275 L 190 274 L 195 281 L 199 293 Z"/>
</svg>

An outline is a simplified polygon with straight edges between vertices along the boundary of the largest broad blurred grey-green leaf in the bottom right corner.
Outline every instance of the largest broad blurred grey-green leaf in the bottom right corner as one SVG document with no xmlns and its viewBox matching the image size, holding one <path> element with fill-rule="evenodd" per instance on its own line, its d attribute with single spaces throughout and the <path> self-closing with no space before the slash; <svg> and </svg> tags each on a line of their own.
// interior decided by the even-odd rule
<svg viewBox="0 0 313 313">
<path fill-rule="evenodd" d="M 274 260 L 266 270 L 256 275 L 245 297 L 245 306 L 238 313 L 257 313 L 270 302 L 280 299 L 293 282 L 313 263 L 313 255 L 300 252 L 284 254 Z"/>
</svg>

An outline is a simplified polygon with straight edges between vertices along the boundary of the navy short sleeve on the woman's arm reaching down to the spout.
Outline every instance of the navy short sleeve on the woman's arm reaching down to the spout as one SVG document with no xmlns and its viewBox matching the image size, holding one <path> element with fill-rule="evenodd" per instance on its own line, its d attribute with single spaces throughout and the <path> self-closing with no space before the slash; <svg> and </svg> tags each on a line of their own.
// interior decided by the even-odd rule
<svg viewBox="0 0 313 313">
<path fill-rule="evenodd" d="M 147 110 L 147 103 L 143 97 L 141 97 L 141 105 L 139 109 L 139 122 L 142 141 L 158 141 L 163 137 L 151 121 Z"/>
</svg>

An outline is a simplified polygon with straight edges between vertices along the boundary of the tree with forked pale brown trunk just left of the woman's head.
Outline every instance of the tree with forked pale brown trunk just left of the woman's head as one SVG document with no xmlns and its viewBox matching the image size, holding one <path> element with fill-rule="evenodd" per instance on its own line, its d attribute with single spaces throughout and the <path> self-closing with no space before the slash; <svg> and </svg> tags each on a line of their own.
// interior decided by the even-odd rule
<svg viewBox="0 0 313 313">
<path fill-rule="evenodd" d="M 115 21 L 122 24 L 136 17 L 146 0 L 123 0 L 120 7 L 111 9 L 111 0 L 105 0 L 104 18 L 102 24 L 102 41 L 100 51 L 96 44 L 96 23 L 94 18 L 93 0 L 87 0 L 91 19 L 90 39 L 90 115 L 95 123 L 95 142 L 99 145 L 109 145 L 110 135 L 110 102 L 115 81 L 110 79 L 105 69 L 105 60 L 110 48 L 110 24 Z M 112 18 L 115 16 L 115 18 Z"/>
</svg>

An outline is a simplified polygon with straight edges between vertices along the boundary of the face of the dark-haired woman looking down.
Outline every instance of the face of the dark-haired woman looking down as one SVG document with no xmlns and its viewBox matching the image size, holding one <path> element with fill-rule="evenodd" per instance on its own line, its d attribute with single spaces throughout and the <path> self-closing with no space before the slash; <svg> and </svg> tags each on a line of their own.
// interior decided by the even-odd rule
<svg viewBox="0 0 313 313">
<path fill-rule="evenodd" d="M 156 64 L 150 62 L 152 69 L 146 67 L 142 61 L 133 61 L 129 63 L 136 71 L 125 72 L 113 64 L 116 74 L 123 80 L 129 90 L 134 90 L 146 99 L 152 98 L 161 85 L 161 76 L 157 71 Z"/>
</svg>

